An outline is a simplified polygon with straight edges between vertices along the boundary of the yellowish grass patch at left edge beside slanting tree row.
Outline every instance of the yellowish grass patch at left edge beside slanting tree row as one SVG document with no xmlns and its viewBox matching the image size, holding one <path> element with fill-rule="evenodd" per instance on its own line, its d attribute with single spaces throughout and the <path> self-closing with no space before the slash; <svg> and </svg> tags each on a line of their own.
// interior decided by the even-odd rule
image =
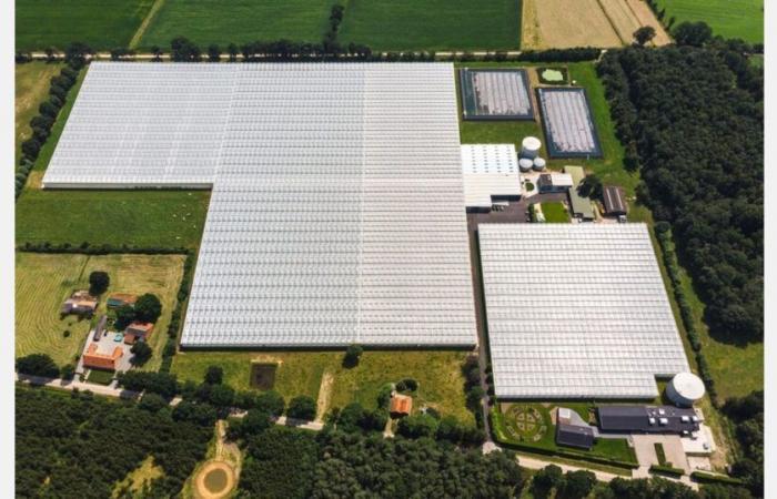
<svg viewBox="0 0 777 499">
<path fill-rule="evenodd" d="M 59 74 L 62 64 L 33 61 L 14 65 L 16 75 L 16 154 L 14 170 L 19 165 L 21 143 L 30 138 L 30 120 L 38 114 L 38 106 L 49 99 L 49 80 Z"/>
</svg>

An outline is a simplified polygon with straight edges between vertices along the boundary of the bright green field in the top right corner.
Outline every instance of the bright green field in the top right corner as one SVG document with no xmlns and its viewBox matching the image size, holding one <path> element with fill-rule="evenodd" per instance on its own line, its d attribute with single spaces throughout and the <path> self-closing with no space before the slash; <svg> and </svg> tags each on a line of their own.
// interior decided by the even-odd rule
<svg viewBox="0 0 777 499">
<path fill-rule="evenodd" d="M 658 9 L 666 9 L 666 18 L 683 21 L 704 21 L 715 34 L 741 38 L 749 42 L 764 41 L 763 0 L 657 0 Z"/>
</svg>

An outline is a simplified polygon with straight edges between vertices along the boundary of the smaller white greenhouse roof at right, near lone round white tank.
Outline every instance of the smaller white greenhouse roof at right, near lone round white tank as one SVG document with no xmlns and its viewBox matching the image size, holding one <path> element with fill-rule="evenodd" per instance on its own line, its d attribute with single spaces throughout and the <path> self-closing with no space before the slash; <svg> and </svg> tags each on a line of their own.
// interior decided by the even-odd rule
<svg viewBox="0 0 777 499">
<path fill-rule="evenodd" d="M 644 224 L 481 224 L 496 396 L 652 398 L 688 370 Z"/>
</svg>

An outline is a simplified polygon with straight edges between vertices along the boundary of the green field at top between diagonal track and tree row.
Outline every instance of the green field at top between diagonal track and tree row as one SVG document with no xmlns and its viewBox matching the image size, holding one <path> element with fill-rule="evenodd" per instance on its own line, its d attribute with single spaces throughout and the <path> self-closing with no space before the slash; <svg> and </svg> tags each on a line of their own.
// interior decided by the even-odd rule
<svg viewBox="0 0 777 499">
<path fill-rule="evenodd" d="M 164 0 L 139 47 L 160 45 L 184 35 L 203 49 L 210 43 L 245 43 L 256 40 L 320 42 L 329 29 L 326 0 Z"/>
</svg>

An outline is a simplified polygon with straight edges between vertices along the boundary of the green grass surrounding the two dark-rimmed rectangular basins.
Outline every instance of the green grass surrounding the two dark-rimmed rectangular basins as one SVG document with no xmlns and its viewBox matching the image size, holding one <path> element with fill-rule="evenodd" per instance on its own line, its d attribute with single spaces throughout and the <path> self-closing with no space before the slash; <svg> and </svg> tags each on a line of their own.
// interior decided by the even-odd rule
<svg viewBox="0 0 777 499">
<path fill-rule="evenodd" d="M 515 63 L 515 62 L 466 62 L 456 63 L 457 68 L 527 68 L 537 64 Z M 603 157 L 595 160 L 568 159 L 548 160 L 551 169 L 561 170 L 564 165 L 582 165 L 589 173 L 595 173 L 604 183 L 622 185 L 627 195 L 634 195 L 634 190 L 639 182 L 638 173 L 628 173 L 623 167 L 624 149 L 615 136 L 615 124 L 609 115 L 609 106 L 604 94 L 604 86 L 596 77 L 596 69 L 593 62 L 576 62 L 567 65 L 571 80 L 577 86 L 583 86 L 588 93 L 591 112 L 599 135 Z M 534 71 L 534 69 L 529 69 Z M 456 78 L 456 80 L 458 80 Z M 456 81 L 458 84 L 458 81 Z M 458 92 L 456 92 L 458 94 Z M 457 96 L 461 100 L 461 96 Z M 461 102 L 460 102 L 461 111 Z M 543 147 L 539 154 L 547 157 L 545 149 L 545 134 L 538 121 L 464 121 L 460 112 L 461 141 L 464 144 L 475 143 L 513 143 L 521 149 L 521 141 L 526 135 L 539 138 Z"/>
</svg>

